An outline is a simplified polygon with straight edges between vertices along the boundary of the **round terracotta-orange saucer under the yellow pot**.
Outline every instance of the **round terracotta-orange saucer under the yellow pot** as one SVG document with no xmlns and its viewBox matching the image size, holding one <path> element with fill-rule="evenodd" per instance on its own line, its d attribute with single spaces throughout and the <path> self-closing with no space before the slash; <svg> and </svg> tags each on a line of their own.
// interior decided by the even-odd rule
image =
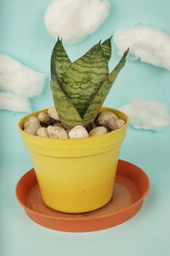
<svg viewBox="0 0 170 256">
<path fill-rule="evenodd" d="M 46 228 L 66 232 L 104 230 L 122 224 L 139 212 L 150 188 L 149 178 L 144 171 L 125 160 L 118 161 L 116 173 L 111 201 L 93 212 L 71 214 L 47 207 L 42 201 L 34 169 L 20 178 L 16 197 L 26 214 Z"/>
</svg>

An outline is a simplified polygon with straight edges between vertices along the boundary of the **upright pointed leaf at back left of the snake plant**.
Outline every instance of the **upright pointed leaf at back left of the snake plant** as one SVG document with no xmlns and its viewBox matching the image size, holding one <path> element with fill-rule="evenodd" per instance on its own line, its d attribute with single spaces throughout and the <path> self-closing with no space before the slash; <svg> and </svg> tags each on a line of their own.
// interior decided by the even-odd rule
<svg viewBox="0 0 170 256">
<path fill-rule="evenodd" d="M 52 76 L 58 73 L 59 80 L 62 81 L 62 78 L 68 69 L 71 66 L 71 61 L 63 47 L 62 42 L 58 39 L 57 43 L 54 45 L 54 49 L 51 55 L 51 74 Z"/>
</svg>

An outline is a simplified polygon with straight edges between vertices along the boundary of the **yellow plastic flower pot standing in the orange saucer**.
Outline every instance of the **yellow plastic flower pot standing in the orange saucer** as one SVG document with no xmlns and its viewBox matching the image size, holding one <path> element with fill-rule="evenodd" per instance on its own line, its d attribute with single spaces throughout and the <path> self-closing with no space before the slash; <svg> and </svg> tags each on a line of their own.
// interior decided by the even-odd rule
<svg viewBox="0 0 170 256">
<path fill-rule="evenodd" d="M 118 110 L 101 111 L 116 113 L 126 124 L 98 137 L 62 140 L 31 135 L 22 130 L 28 115 L 20 119 L 20 134 L 30 150 L 42 199 L 48 207 L 60 212 L 89 212 L 111 200 L 128 119 Z"/>
</svg>

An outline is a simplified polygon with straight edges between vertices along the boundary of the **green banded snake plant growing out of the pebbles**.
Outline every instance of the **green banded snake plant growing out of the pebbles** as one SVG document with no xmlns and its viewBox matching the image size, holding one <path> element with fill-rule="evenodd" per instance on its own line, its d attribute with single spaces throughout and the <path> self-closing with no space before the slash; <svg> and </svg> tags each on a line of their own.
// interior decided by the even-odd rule
<svg viewBox="0 0 170 256">
<path fill-rule="evenodd" d="M 58 39 L 51 56 L 51 90 L 59 119 L 66 128 L 87 127 L 99 113 L 117 74 L 124 67 L 128 49 L 109 73 L 111 38 L 95 44 L 77 61 L 71 62 Z"/>
</svg>

